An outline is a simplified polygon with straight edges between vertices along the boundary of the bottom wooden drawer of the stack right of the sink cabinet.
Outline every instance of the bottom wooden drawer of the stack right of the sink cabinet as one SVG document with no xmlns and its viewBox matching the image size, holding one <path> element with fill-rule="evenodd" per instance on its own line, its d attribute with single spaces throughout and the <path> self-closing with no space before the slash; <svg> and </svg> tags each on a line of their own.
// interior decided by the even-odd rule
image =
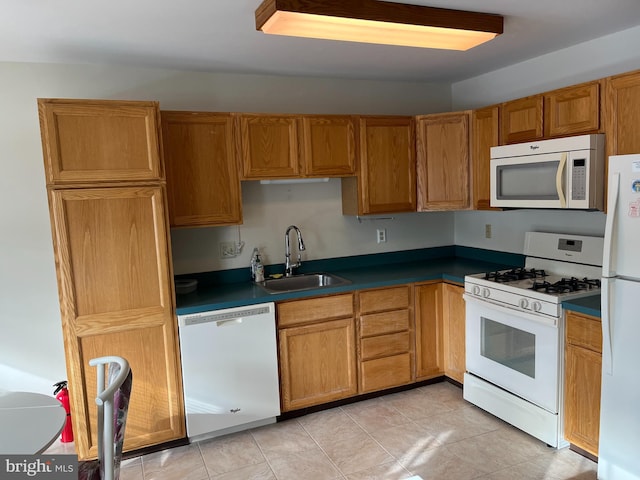
<svg viewBox="0 0 640 480">
<path fill-rule="evenodd" d="M 413 381 L 411 354 L 378 358 L 360 364 L 360 392 L 373 392 Z"/>
</svg>

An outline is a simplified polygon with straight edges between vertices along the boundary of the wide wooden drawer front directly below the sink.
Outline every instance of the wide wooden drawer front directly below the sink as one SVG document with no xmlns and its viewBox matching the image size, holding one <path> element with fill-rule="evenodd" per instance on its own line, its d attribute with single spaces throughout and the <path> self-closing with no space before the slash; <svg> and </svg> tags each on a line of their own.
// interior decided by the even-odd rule
<svg viewBox="0 0 640 480">
<path fill-rule="evenodd" d="M 278 327 L 353 316 L 353 295 L 334 295 L 278 303 Z"/>
</svg>

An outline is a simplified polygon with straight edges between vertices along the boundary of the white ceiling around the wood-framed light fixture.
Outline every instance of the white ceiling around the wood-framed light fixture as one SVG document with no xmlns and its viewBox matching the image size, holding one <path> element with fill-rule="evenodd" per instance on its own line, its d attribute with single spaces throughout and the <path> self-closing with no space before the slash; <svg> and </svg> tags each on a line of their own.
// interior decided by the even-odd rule
<svg viewBox="0 0 640 480">
<path fill-rule="evenodd" d="M 457 81 L 640 24 L 639 0 L 407 0 L 505 17 L 503 35 L 455 52 L 265 35 L 260 3 L 0 0 L 0 61 Z"/>
</svg>

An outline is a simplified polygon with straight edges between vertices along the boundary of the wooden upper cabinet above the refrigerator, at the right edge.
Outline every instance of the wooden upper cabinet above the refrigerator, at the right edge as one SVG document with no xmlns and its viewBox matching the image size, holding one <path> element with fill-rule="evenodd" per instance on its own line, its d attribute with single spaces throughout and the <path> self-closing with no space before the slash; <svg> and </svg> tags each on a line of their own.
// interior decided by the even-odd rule
<svg viewBox="0 0 640 480">
<path fill-rule="evenodd" d="M 605 79 L 607 156 L 640 152 L 640 70 Z"/>
</svg>

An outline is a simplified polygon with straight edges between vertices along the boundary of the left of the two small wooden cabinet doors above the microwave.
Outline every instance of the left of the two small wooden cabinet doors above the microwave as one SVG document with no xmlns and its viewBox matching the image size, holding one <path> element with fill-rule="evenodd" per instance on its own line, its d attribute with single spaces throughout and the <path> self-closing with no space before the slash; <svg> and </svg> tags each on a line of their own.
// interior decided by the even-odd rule
<svg viewBox="0 0 640 480">
<path fill-rule="evenodd" d="M 533 142 L 542 138 L 542 95 L 519 98 L 501 105 L 502 142 Z"/>
</svg>

